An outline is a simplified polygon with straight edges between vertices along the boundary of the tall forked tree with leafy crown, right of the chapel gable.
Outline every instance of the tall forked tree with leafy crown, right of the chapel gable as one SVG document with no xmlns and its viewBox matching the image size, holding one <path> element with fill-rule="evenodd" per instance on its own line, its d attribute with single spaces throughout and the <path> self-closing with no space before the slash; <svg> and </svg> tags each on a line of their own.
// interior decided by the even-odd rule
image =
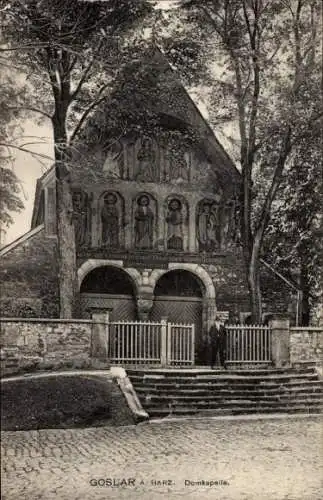
<svg viewBox="0 0 323 500">
<path fill-rule="evenodd" d="M 260 321 L 260 258 L 272 204 L 293 148 L 321 116 L 308 91 L 313 75 L 321 73 L 315 57 L 319 3 L 189 0 L 182 5 L 189 22 L 211 30 L 209 45 L 213 41 L 215 50 L 210 48 L 208 63 L 217 62 L 211 103 L 218 109 L 224 97 L 225 115 L 237 119 L 241 243 L 252 319 Z M 318 78 L 315 85 L 319 89 Z M 270 178 L 260 197 L 259 172 Z"/>
</svg>

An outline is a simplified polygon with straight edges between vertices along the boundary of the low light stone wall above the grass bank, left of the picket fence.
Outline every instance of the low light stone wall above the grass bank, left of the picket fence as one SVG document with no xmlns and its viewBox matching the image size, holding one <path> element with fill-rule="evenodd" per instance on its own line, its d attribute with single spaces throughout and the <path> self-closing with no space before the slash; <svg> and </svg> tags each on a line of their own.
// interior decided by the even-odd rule
<svg viewBox="0 0 323 500">
<path fill-rule="evenodd" d="M 1 368 L 89 367 L 92 343 L 104 323 L 90 320 L 1 320 Z"/>
</svg>

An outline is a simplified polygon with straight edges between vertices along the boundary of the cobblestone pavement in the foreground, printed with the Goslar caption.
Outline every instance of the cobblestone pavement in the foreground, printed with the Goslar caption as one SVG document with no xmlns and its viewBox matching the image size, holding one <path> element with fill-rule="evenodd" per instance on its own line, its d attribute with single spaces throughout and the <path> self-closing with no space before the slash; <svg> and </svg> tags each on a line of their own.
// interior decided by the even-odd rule
<svg viewBox="0 0 323 500">
<path fill-rule="evenodd" d="M 3 432 L 1 498 L 319 500 L 322 437 L 317 417 Z"/>
</svg>

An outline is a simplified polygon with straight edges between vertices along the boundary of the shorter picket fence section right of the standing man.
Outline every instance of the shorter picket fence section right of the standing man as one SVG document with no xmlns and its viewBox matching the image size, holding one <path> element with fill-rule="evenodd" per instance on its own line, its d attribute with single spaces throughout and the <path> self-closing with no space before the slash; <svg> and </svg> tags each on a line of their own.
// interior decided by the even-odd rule
<svg viewBox="0 0 323 500">
<path fill-rule="evenodd" d="M 226 358 L 229 363 L 269 364 L 271 329 L 264 325 L 226 326 Z"/>
</svg>

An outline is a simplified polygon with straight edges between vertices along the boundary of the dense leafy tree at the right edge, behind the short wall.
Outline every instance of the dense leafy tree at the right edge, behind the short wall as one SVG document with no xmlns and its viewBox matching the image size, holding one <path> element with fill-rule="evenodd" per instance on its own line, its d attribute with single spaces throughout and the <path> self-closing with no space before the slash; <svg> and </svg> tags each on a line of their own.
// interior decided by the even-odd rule
<svg viewBox="0 0 323 500">
<path fill-rule="evenodd" d="M 322 293 L 320 142 L 316 133 L 298 144 L 283 176 L 264 242 L 266 261 L 298 282 L 302 325 L 310 323 Z"/>
</svg>

